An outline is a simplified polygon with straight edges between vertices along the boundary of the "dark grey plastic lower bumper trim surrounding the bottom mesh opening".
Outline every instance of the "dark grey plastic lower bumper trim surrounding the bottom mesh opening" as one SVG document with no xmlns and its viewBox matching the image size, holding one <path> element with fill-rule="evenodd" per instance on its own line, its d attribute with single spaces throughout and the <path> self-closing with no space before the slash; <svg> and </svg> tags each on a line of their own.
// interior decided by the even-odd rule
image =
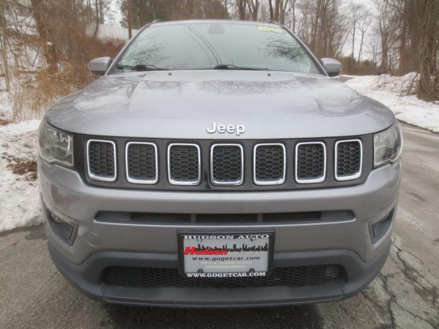
<svg viewBox="0 0 439 329">
<path fill-rule="evenodd" d="M 108 266 L 139 266 L 174 268 L 176 255 L 98 252 L 82 264 L 68 261 L 49 242 L 49 251 L 58 270 L 87 296 L 108 303 L 169 307 L 248 307 L 281 306 L 340 300 L 352 297 L 367 286 L 378 274 L 389 254 L 390 244 L 370 262 L 363 262 L 350 250 L 324 250 L 275 254 L 274 267 L 307 266 L 335 262 L 345 268 L 342 283 L 328 285 L 253 288 L 130 288 L 107 286 L 101 282 L 101 273 Z"/>
</svg>

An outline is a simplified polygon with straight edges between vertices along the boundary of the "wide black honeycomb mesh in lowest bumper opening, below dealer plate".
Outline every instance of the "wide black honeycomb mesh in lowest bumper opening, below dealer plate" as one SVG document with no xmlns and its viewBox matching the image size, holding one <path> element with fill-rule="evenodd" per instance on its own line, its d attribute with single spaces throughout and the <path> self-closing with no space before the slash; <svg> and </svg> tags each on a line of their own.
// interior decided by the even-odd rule
<svg viewBox="0 0 439 329">
<path fill-rule="evenodd" d="M 314 286 L 342 280 L 340 265 L 312 265 L 274 268 L 266 277 L 237 277 L 224 279 L 186 278 L 176 268 L 108 267 L 104 283 L 110 286 L 138 288 L 160 287 L 218 287 L 243 288 L 264 286 Z"/>
</svg>

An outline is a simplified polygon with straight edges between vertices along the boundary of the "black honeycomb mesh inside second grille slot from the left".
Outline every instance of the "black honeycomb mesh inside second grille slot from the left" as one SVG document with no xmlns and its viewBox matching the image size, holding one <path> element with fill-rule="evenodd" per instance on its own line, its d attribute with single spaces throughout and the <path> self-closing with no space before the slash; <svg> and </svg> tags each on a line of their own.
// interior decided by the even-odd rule
<svg viewBox="0 0 439 329">
<path fill-rule="evenodd" d="M 154 181 L 157 176 L 155 147 L 152 144 L 131 143 L 127 150 L 130 179 Z"/>
</svg>

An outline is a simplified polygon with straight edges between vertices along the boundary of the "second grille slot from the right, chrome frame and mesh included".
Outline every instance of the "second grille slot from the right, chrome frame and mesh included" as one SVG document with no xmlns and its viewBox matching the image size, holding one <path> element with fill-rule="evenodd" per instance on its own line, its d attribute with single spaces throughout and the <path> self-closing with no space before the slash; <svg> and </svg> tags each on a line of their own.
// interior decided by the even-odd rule
<svg viewBox="0 0 439 329">
<path fill-rule="evenodd" d="M 296 145 L 295 176 L 298 183 L 319 183 L 326 175 L 326 147 L 322 142 Z"/>
</svg>

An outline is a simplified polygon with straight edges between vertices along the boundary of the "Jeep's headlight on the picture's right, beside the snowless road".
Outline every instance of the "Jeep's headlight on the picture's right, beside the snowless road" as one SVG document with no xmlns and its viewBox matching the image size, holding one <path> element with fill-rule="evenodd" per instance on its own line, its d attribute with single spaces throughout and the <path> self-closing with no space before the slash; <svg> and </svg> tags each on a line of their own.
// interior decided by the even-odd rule
<svg viewBox="0 0 439 329">
<path fill-rule="evenodd" d="M 374 134 L 374 167 L 395 162 L 402 151 L 401 129 L 398 123 Z"/>
</svg>

